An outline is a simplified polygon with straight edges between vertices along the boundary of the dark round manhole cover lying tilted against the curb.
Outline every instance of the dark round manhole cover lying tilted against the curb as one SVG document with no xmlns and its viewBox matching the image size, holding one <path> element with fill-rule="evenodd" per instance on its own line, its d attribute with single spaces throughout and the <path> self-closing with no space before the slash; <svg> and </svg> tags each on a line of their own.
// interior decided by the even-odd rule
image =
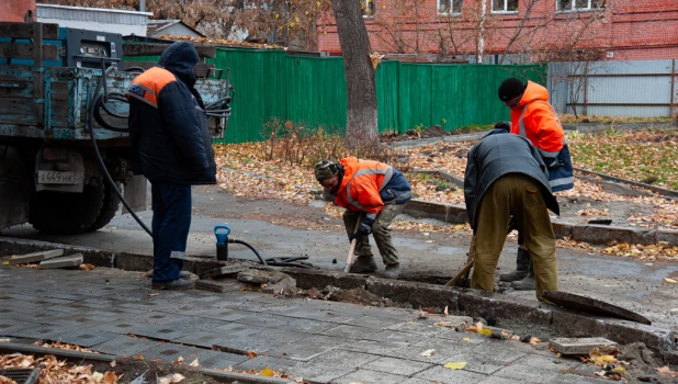
<svg viewBox="0 0 678 384">
<path fill-rule="evenodd" d="M 545 300 L 566 308 L 573 308 L 576 310 L 583 310 L 590 314 L 597 314 L 608 317 L 621 318 L 645 325 L 652 324 L 652 321 L 647 317 L 641 314 L 636 314 L 635 312 L 596 298 L 586 297 L 563 291 L 544 291 L 543 295 Z"/>
</svg>

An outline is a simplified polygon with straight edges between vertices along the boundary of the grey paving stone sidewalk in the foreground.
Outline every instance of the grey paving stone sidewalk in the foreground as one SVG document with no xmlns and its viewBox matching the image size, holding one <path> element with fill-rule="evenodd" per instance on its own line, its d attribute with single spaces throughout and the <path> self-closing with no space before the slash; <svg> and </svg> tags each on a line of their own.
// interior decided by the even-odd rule
<svg viewBox="0 0 678 384">
<path fill-rule="evenodd" d="M 241 291 L 152 291 L 138 272 L 0 267 L 0 336 L 61 340 L 204 368 L 284 370 L 310 383 L 606 383 L 545 348 L 456 332 L 413 310 Z M 421 352 L 434 349 L 430 357 Z M 247 351 L 258 357 L 249 359 Z M 462 370 L 444 368 L 466 362 Z"/>
</svg>

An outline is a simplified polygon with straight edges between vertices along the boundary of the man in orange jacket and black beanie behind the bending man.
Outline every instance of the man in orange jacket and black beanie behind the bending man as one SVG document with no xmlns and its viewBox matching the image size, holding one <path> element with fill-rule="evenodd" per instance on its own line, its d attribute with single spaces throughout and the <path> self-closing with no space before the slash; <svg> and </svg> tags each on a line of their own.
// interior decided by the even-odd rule
<svg viewBox="0 0 678 384">
<path fill-rule="evenodd" d="M 511 109 L 511 125 L 502 125 L 510 133 L 529 139 L 549 169 L 549 184 L 552 192 L 574 188 L 574 177 L 569 147 L 565 131 L 549 103 L 549 91 L 532 81 L 527 84 L 509 78 L 499 86 L 499 99 Z M 499 123 L 501 124 L 501 123 Z M 499 275 L 499 280 L 513 282 L 518 291 L 534 290 L 534 273 L 529 252 L 523 245 L 522 234 L 518 234 L 518 255 L 516 270 Z"/>
</svg>

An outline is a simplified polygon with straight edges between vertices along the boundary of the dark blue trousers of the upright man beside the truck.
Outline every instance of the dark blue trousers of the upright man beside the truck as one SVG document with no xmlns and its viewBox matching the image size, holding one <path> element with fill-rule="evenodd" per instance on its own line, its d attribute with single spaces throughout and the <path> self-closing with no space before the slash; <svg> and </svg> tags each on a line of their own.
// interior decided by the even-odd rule
<svg viewBox="0 0 678 384">
<path fill-rule="evenodd" d="M 191 228 L 191 185 L 155 182 L 152 193 L 152 280 L 179 279 Z"/>
</svg>

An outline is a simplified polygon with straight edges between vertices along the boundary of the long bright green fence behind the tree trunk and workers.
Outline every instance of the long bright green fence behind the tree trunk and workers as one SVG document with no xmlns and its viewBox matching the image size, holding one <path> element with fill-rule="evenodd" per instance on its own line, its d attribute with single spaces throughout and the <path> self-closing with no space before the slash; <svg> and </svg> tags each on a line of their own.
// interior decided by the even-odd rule
<svg viewBox="0 0 678 384">
<path fill-rule="evenodd" d="M 264 125 L 274 120 L 346 129 L 347 90 L 340 57 L 217 47 L 210 63 L 230 69 L 236 90 L 222 143 L 261 140 Z M 546 66 L 383 61 L 376 70 L 378 129 L 404 133 L 443 125 L 451 131 L 509 120 L 509 110 L 497 98 L 499 83 L 508 77 L 545 84 Z"/>
</svg>

